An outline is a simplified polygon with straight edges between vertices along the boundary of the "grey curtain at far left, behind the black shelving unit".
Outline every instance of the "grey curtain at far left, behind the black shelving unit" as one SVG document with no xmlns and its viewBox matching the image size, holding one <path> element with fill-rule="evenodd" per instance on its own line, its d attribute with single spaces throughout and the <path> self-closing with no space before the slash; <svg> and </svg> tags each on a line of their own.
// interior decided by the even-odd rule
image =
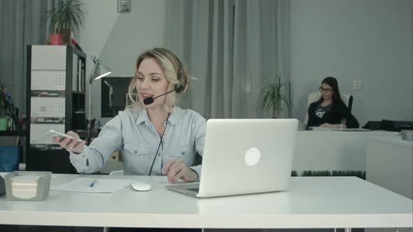
<svg viewBox="0 0 413 232">
<path fill-rule="evenodd" d="M 26 47 L 45 44 L 45 27 L 40 24 L 47 3 L 48 0 L 0 0 L 0 79 L 12 89 L 15 106 L 21 113 L 26 111 Z"/>
</svg>

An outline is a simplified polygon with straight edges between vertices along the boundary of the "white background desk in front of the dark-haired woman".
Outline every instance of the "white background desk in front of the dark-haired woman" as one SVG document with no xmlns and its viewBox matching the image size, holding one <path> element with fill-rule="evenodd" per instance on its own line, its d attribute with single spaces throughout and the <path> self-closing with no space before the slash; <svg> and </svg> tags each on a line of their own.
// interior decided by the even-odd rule
<svg viewBox="0 0 413 232">
<path fill-rule="evenodd" d="M 388 131 L 298 131 L 293 170 L 298 174 L 302 171 L 365 171 L 370 138 L 392 138 L 396 134 Z"/>
</svg>

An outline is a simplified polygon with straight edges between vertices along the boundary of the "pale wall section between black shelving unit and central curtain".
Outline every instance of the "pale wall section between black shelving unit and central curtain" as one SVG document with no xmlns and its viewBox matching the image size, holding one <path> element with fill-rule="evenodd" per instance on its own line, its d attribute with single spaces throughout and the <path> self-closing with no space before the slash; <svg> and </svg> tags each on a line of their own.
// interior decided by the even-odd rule
<svg viewBox="0 0 413 232">
<path fill-rule="evenodd" d="M 87 75 L 93 67 L 91 55 L 99 57 L 111 68 L 109 76 L 134 75 L 138 55 L 155 46 L 162 46 L 165 31 L 166 0 L 132 0 L 130 13 L 118 13 L 113 0 L 83 0 L 88 16 L 80 31 L 78 43 L 87 54 Z M 92 117 L 102 124 L 101 80 L 92 85 Z"/>
</svg>

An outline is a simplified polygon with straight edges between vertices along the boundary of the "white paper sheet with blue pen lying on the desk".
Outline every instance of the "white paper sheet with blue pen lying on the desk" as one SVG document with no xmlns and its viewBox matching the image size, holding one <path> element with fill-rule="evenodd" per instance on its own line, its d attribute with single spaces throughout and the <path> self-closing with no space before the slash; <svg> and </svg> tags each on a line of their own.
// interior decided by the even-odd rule
<svg viewBox="0 0 413 232">
<path fill-rule="evenodd" d="M 94 182 L 94 180 L 96 180 L 96 182 Z M 90 187 L 92 182 L 94 182 L 93 187 Z M 110 194 L 128 187 L 132 182 L 132 180 L 93 179 L 89 177 L 81 177 L 77 180 L 73 180 L 72 182 L 50 187 L 50 190 Z"/>
</svg>

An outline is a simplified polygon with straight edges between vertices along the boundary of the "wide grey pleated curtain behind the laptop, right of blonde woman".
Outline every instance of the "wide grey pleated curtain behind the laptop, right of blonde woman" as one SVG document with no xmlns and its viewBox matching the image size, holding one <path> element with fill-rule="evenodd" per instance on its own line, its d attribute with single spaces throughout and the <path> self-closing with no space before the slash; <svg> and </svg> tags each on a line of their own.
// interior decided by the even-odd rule
<svg viewBox="0 0 413 232">
<path fill-rule="evenodd" d="M 277 73 L 290 78 L 288 1 L 167 4 L 164 44 L 196 78 L 179 106 L 206 118 L 269 117 L 256 111 L 255 102 Z"/>
</svg>

